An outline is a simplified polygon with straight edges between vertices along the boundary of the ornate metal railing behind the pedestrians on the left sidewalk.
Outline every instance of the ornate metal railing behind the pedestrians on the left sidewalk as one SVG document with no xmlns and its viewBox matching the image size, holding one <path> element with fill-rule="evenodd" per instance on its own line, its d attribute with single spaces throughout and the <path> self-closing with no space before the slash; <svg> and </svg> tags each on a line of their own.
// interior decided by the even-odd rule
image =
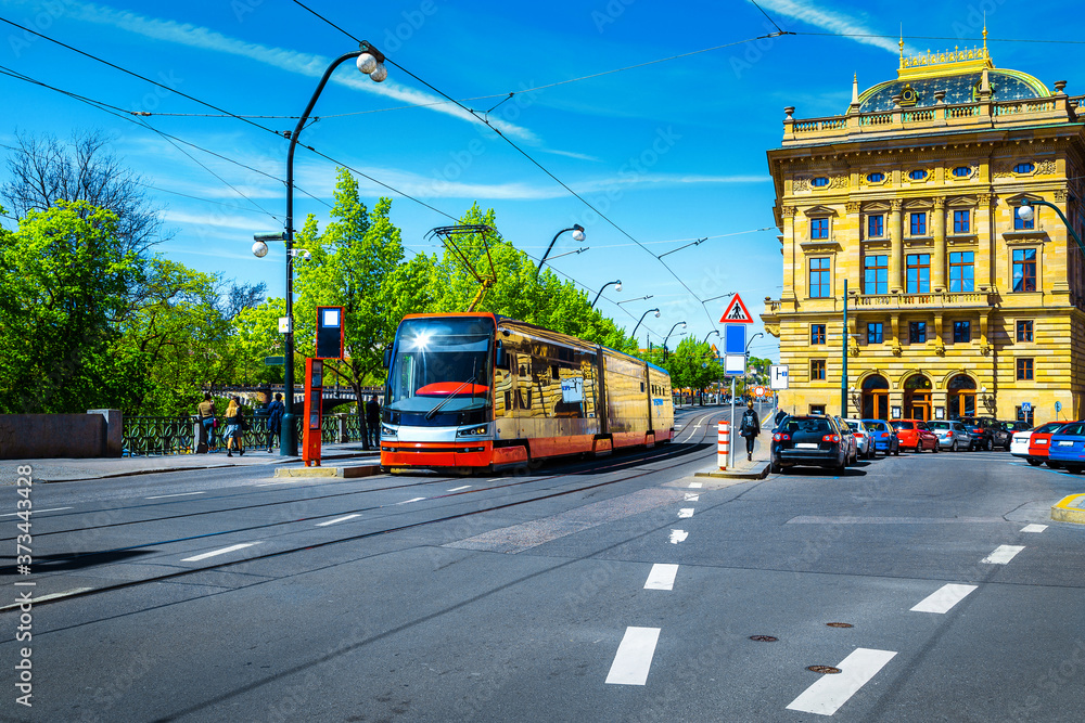
<svg viewBox="0 0 1085 723">
<path fill-rule="evenodd" d="M 224 449 L 222 432 L 226 431 L 226 417 L 219 416 L 218 428 L 214 440 L 218 449 Z M 279 446 L 278 440 L 270 440 L 271 432 L 267 427 L 267 417 L 252 415 L 246 417 L 248 429 L 242 434 L 245 449 L 268 449 Z M 294 419 L 297 439 L 302 438 L 302 417 Z M 192 454 L 199 438 L 194 435 L 196 417 L 193 416 L 126 416 L 122 432 L 123 454 L 125 456 Z M 331 414 L 321 422 L 320 440 L 324 443 L 361 441 L 363 429 L 361 419 L 356 414 Z"/>
</svg>

